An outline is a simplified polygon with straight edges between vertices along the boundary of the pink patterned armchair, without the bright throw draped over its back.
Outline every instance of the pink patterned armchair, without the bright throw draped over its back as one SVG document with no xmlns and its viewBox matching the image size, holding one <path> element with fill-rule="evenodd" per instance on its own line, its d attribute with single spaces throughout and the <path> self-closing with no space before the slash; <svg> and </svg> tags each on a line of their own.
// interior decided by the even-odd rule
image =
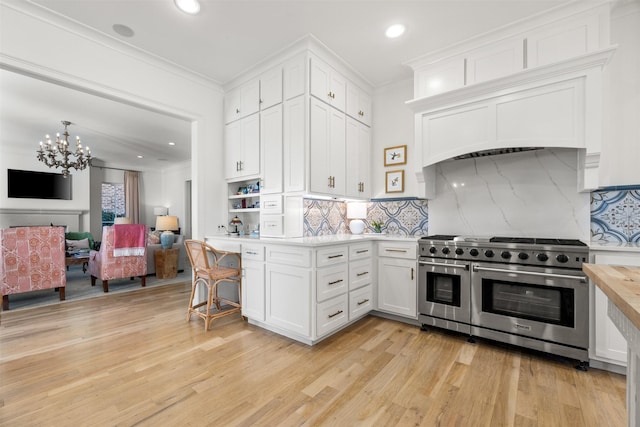
<svg viewBox="0 0 640 427">
<path fill-rule="evenodd" d="M 142 279 L 142 286 L 145 286 L 147 275 L 146 227 L 144 225 L 139 226 L 144 235 L 144 252 L 142 255 L 130 256 L 114 256 L 114 227 L 125 227 L 125 225 L 104 226 L 102 228 L 100 250 L 89 253 L 91 286 L 95 286 L 96 279 L 100 279 L 102 280 L 102 289 L 105 292 L 109 292 L 109 280 L 126 277 L 133 279 L 135 276 L 139 276 Z"/>
</svg>

